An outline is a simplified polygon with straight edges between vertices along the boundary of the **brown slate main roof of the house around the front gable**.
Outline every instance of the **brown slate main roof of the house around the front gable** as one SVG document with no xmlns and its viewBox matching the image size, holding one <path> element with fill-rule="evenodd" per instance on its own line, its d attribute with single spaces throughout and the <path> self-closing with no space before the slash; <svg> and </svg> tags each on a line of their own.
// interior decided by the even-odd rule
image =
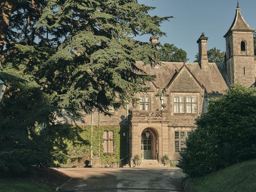
<svg viewBox="0 0 256 192">
<path fill-rule="evenodd" d="M 176 74 L 184 67 L 187 67 L 189 72 L 202 87 L 206 89 L 208 94 L 223 94 L 224 90 L 229 87 L 226 74 L 226 66 L 224 63 L 209 63 L 208 70 L 201 70 L 198 63 L 180 63 L 180 62 L 161 62 L 160 66 L 151 68 L 149 65 L 144 65 L 143 62 L 137 61 L 136 65 L 149 75 L 156 76 L 154 86 L 158 89 L 168 88 Z M 186 82 L 184 82 L 186 83 Z"/>
</svg>

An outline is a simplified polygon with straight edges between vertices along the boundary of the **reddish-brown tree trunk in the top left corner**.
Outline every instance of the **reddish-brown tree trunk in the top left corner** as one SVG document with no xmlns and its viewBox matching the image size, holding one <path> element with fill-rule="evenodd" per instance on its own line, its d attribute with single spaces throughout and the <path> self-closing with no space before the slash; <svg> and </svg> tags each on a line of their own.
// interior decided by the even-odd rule
<svg viewBox="0 0 256 192">
<path fill-rule="evenodd" d="M 2 52 L 4 49 L 4 44 L 6 44 L 6 33 L 14 8 L 15 3 L 13 0 L 1 0 L 2 13 L 0 13 L 0 52 Z"/>
</svg>

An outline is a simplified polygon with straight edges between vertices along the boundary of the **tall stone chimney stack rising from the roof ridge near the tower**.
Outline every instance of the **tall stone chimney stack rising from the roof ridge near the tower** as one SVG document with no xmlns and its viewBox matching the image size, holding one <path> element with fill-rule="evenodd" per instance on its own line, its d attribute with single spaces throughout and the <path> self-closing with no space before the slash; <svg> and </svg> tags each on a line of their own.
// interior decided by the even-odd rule
<svg viewBox="0 0 256 192">
<path fill-rule="evenodd" d="M 202 70 L 208 69 L 207 40 L 208 40 L 208 37 L 205 37 L 204 33 L 202 33 L 200 38 L 197 40 L 198 48 L 199 48 L 198 60 Z"/>
</svg>

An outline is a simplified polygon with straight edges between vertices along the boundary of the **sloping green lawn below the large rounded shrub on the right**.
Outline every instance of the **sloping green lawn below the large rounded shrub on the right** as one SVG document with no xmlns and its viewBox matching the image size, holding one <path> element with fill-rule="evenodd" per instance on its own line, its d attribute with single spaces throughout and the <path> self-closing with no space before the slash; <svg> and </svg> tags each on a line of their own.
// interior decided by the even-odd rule
<svg viewBox="0 0 256 192">
<path fill-rule="evenodd" d="M 256 159 L 191 180 L 197 192 L 255 192 Z"/>
</svg>

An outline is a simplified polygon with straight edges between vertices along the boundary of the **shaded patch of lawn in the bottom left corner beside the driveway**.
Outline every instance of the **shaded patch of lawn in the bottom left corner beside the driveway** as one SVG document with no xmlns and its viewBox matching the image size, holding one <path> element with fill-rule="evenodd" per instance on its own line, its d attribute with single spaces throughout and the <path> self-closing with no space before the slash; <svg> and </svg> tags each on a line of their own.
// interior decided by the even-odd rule
<svg viewBox="0 0 256 192">
<path fill-rule="evenodd" d="M 0 178 L 0 192 L 54 192 L 56 188 L 22 178 Z"/>
</svg>

